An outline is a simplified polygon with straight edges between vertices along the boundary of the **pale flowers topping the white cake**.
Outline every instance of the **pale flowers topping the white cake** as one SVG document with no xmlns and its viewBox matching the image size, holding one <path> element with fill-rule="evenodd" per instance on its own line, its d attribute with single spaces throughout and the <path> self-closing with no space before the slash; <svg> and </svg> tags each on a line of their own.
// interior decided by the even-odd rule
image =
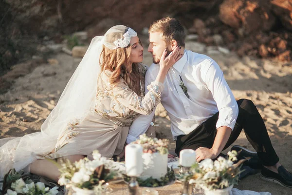
<svg viewBox="0 0 292 195">
<path fill-rule="evenodd" d="M 157 139 L 147 137 L 146 134 L 140 135 L 139 139 L 132 142 L 135 144 L 140 144 L 143 147 L 143 153 L 160 153 L 165 155 L 168 153 L 168 139 Z"/>
</svg>

